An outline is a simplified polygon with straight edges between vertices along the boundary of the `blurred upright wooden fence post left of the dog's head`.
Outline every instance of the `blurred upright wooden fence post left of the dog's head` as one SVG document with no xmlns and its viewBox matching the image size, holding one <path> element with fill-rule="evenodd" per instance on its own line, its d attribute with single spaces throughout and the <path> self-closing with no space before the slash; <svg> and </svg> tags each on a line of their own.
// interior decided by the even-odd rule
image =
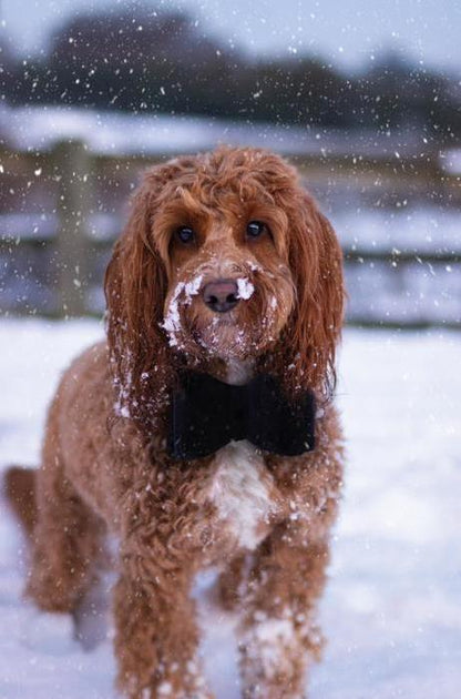
<svg viewBox="0 0 461 699">
<path fill-rule="evenodd" d="M 89 239 L 91 156 L 82 141 L 61 141 L 53 149 L 58 189 L 58 312 L 86 313 L 91 243 Z"/>
</svg>

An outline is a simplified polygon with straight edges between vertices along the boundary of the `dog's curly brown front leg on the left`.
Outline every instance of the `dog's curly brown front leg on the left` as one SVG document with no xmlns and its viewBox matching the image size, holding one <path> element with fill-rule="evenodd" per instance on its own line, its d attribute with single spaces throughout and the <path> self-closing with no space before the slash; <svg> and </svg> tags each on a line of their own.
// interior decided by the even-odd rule
<svg viewBox="0 0 461 699">
<path fill-rule="evenodd" d="M 114 590 L 120 689 L 131 699 L 212 699 L 196 656 L 192 568 L 160 551 L 122 555 Z"/>
</svg>

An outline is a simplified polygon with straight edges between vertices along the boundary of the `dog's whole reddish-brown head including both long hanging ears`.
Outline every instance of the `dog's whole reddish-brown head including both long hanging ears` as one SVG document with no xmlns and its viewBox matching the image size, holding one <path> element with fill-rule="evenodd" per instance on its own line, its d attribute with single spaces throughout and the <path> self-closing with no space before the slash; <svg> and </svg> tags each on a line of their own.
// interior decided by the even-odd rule
<svg viewBox="0 0 461 699">
<path fill-rule="evenodd" d="M 161 399 L 177 361 L 253 359 L 291 392 L 329 389 L 340 250 L 277 155 L 221 148 L 150 170 L 105 292 L 111 357 L 132 413 L 146 401 L 152 409 L 153 392 Z"/>
</svg>

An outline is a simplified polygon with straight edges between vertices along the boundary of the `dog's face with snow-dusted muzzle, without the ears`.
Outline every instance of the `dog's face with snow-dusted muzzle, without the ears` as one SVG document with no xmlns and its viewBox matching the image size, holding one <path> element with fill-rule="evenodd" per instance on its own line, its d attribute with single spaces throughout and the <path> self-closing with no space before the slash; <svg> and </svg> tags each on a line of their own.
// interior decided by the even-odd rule
<svg viewBox="0 0 461 699">
<path fill-rule="evenodd" d="M 189 356 L 256 357 L 277 341 L 295 304 L 289 222 L 269 186 L 257 186 L 265 178 L 257 158 L 248 159 L 245 181 L 214 163 L 199 166 L 192 185 L 177 178 L 153 216 L 167 275 L 162 326 Z"/>
</svg>

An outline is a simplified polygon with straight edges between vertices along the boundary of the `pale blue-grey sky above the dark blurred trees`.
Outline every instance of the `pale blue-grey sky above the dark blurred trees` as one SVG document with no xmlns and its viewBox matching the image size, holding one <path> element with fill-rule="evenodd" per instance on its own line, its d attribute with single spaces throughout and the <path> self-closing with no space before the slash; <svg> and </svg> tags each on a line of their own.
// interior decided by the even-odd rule
<svg viewBox="0 0 461 699">
<path fill-rule="evenodd" d="M 37 53 L 72 14 L 141 2 L 0 0 L 2 31 L 17 52 Z M 310 53 L 347 70 L 367 68 L 392 50 L 416 63 L 461 73 L 460 0 L 144 0 L 144 6 L 187 9 L 204 34 L 224 37 L 252 53 Z"/>
</svg>

